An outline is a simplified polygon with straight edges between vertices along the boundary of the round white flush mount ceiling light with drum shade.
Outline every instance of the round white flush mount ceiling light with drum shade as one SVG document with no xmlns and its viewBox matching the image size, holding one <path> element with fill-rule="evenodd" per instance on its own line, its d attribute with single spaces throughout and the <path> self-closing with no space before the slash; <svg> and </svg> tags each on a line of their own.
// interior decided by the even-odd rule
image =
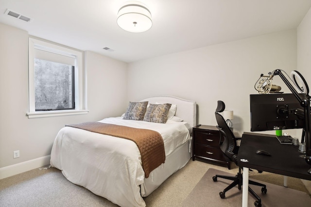
<svg viewBox="0 0 311 207">
<path fill-rule="evenodd" d="M 152 26 L 151 13 L 140 2 L 127 2 L 119 9 L 117 23 L 128 32 L 145 32 Z"/>
</svg>

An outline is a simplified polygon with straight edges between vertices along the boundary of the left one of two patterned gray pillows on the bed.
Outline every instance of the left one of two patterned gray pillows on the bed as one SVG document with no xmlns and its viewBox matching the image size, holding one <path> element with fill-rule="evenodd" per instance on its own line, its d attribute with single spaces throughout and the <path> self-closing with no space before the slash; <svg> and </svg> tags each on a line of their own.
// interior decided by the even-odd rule
<svg viewBox="0 0 311 207">
<path fill-rule="evenodd" d="M 148 101 L 131 102 L 128 104 L 123 119 L 143 120 L 146 113 Z"/>
</svg>

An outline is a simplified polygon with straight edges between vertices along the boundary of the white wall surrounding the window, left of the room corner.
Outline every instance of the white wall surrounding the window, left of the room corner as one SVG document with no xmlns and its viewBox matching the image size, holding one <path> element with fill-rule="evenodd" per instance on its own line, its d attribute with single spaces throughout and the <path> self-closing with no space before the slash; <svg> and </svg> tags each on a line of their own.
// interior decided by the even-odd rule
<svg viewBox="0 0 311 207">
<path fill-rule="evenodd" d="M 65 124 L 119 116 L 127 107 L 127 64 L 87 51 L 89 113 L 28 119 L 28 32 L 0 24 L 0 54 L 0 178 L 10 166 L 47 158 Z"/>
</svg>

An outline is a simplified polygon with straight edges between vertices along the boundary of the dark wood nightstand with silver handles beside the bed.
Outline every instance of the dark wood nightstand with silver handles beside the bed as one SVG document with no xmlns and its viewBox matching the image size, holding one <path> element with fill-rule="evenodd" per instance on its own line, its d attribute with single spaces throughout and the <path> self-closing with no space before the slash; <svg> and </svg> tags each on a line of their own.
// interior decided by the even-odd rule
<svg viewBox="0 0 311 207">
<path fill-rule="evenodd" d="M 195 158 L 213 161 L 227 165 L 230 170 L 230 161 L 220 149 L 220 131 L 215 126 L 201 125 L 192 128 L 192 160 Z"/>
</svg>

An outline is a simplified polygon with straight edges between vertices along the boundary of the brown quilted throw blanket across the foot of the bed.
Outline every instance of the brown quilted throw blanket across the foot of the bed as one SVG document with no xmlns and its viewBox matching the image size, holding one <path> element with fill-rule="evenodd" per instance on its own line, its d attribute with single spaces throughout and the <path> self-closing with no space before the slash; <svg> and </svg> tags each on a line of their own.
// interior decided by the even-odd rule
<svg viewBox="0 0 311 207">
<path fill-rule="evenodd" d="M 100 122 L 85 122 L 81 124 L 70 124 L 66 127 L 81 128 L 100 134 L 121 137 L 135 142 L 140 151 L 142 168 L 145 177 L 148 178 L 151 171 L 164 163 L 165 151 L 162 136 L 157 131 L 125 127 Z"/>
</svg>

